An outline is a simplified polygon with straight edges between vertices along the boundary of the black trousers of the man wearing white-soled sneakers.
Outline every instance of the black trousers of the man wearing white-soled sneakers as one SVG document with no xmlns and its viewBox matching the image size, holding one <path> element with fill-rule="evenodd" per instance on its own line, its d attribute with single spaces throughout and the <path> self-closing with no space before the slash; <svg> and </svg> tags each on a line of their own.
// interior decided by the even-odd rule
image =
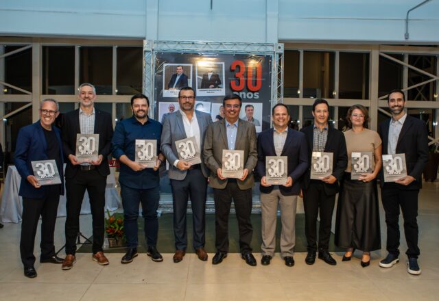
<svg viewBox="0 0 439 301">
<path fill-rule="evenodd" d="M 404 190 L 396 183 L 385 183 L 381 188 L 381 199 L 387 225 L 387 246 L 389 253 L 399 255 L 399 208 L 403 211 L 407 257 L 418 258 L 418 194 L 419 190 Z"/>
</svg>

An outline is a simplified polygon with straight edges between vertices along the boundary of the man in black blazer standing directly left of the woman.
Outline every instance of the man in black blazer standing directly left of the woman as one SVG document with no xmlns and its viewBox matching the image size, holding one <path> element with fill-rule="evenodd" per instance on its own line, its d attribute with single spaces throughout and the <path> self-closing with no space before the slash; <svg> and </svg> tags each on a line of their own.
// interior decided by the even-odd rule
<svg viewBox="0 0 439 301">
<path fill-rule="evenodd" d="M 307 137 L 309 162 L 311 162 L 313 151 L 333 153 L 333 172 L 322 180 L 311 180 L 311 168 L 309 168 L 303 176 L 305 235 L 308 242 L 308 254 L 305 262 L 312 265 L 316 261 L 316 222 L 320 213 L 318 258 L 330 265 L 336 265 L 337 262 L 329 254 L 328 248 L 335 194 L 339 189 L 338 181 L 342 180 L 348 164 L 346 141 L 341 131 L 329 126 L 329 105 L 326 100 L 316 99 L 314 101 L 313 116 L 314 124 L 301 130 Z"/>
</svg>

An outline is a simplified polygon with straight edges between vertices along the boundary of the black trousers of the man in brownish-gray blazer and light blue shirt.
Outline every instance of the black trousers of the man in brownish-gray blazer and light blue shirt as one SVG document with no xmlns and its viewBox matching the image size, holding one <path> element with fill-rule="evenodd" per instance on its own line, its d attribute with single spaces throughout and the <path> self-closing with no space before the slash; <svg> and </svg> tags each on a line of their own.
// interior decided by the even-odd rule
<svg viewBox="0 0 439 301">
<path fill-rule="evenodd" d="M 231 182 L 231 183 L 230 183 Z M 239 250 L 241 254 L 252 252 L 253 227 L 250 215 L 252 213 L 252 189 L 239 189 L 236 182 L 228 180 L 224 189 L 213 189 L 215 200 L 215 247 L 217 252 L 228 252 L 228 215 L 232 200 L 239 227 Z"/>
</svg>

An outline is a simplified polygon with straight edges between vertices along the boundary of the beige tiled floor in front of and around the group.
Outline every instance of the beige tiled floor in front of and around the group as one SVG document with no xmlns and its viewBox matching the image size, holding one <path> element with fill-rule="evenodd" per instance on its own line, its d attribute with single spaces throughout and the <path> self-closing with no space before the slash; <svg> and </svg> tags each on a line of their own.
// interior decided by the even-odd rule
<svg viewBox="0 0 439 301">
<path fill-rule="evenodd" d="M 405 256 L 391 269 L 378 261 L 385 250 L 372 253 L 370 267 L 360 266 L 361 253 L 336 266 L 322 261 L 306 265 L 305 253 L 296 253 L 296 265 L 287 267 L 276 255 L 272 264 L 250 267 L 239 254 L 229 254 L 219 265 L 202 262 L 187 254 L 181 263 L 163 254 L 154 263 L 140 254 L 133 263 L 122 265 L 121 254 L 108 254 L 110 265 L 102 267 L 91 254 L 78 254 L 70 271 L 60 265 L 36 264 L 38 277 L 23 276 L 19 259 L 20 224 L 5 224 L 0 230 L 0 300 L 438 300 L 439 296 L 439 182 L 425 183 L 420 194 L 419 259 L 423 273 L 406 272 Z M 56 225 L 56 247 L 64 244 L 64 218 Z M 90 215 L 81 216 L 84 235 L 91 235 Z M 381 236 L 385 246 L 385 223 L 381 209 Z M 39 237 L 35 254 L 38 258 Z M 405 252 L 405 241 L 401 250 Z M 255 254 L 258 261 L 259 254 Z M 259 262 L 258 262 L 259 263 Z"/>
</svg>

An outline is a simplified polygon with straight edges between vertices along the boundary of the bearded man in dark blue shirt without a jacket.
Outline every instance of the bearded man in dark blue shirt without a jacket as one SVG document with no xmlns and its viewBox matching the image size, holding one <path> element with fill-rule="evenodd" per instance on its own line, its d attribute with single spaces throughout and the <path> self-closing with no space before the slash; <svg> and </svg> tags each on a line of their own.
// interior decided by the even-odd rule
<svg viewBox="0 0 439 301">
<path fill-rule="evenodd" d="M 158 219 L 157 208 L 160 199 L 158 167 L 165 157 L 158 153 L 162 125 L 148 118 L 147 112 L 150 101 L 143 94 L 131 98 L 133 116 L 117 123 L 112 137 L 112 155 L 121 162 L 119 183 L 123 204 L 124 228 L 128 250 L 122 257 L 121 263 L 130 263 L 137 257 L 137 217 L 139 203 L 142 204 L 142 216 L 145 220 L 145 237 L 147 255 L 153 261 L 163 261 L 156 248 Z M 156 140 L 157 160 L 154 168 L 145 168 L 135 161 L 136 140 Z"/>
</svg>

